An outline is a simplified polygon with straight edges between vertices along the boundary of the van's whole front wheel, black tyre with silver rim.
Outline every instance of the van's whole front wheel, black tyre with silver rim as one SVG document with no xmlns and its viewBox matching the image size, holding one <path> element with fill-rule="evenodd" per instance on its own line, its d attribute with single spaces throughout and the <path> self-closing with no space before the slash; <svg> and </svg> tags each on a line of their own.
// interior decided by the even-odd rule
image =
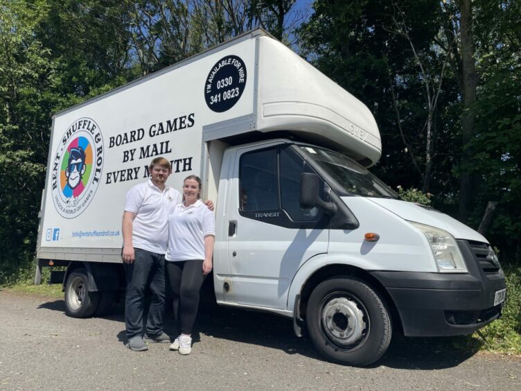
<svg viewBox="0 0 521 391">
<path fill-rule="evenodd" d="M 321 282 L 311 293 L 306 323 L 315 347 L 336 363 L 369 365 L 391 342 L 385 302 L 369 284 L 354 277 Z"/>
</svg>

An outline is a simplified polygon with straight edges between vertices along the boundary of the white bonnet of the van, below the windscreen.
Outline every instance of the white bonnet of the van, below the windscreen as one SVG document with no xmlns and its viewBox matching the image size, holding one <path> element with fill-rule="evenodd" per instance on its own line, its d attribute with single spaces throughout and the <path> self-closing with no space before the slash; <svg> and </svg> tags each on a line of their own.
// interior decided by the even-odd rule
<svg viewBox="0 0 521 391">
<path fill-rule="evenodd" d="M 443 229 L 454 236 L 454 238 L 488 243 L 482 234 L 439 211 L 425 209 L 425 207 L 421 207 L 413 202 L 402 200 L 388 200 L 385 198 L 370 198 L 370 200 L 405 220 Z"/>
</svg>

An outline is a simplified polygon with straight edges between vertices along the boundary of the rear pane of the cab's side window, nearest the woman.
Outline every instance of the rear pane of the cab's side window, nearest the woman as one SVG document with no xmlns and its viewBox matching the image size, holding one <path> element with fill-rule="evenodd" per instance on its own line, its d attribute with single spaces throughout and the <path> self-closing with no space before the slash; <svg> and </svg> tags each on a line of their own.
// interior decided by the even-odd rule
<svg viewBox="0 0 521 391">
<path fill-rule="evenodd" d="M 240 157 L 240 211 L 280 209 L 277 149 L 245 153 Z"/>
</svg>

